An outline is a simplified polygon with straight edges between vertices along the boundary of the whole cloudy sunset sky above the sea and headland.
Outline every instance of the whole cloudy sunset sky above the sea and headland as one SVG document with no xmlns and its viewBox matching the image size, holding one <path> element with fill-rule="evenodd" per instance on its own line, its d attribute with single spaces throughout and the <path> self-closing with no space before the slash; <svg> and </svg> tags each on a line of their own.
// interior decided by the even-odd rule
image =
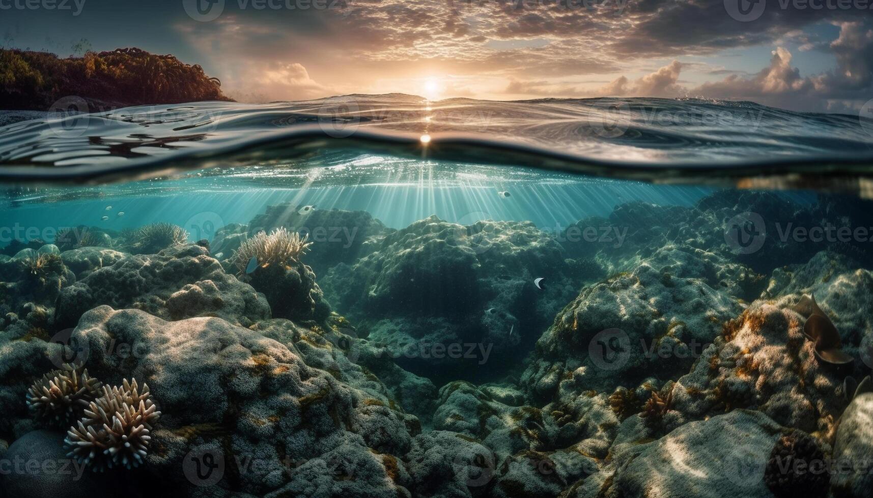
<svg viewBox="0 0 873 498">
<path fill-rule="evenodd" d="M 873 0 L 0 0 L 0 44 L 169 53 L 252 102 L 873 99 Z"/>
</svg>

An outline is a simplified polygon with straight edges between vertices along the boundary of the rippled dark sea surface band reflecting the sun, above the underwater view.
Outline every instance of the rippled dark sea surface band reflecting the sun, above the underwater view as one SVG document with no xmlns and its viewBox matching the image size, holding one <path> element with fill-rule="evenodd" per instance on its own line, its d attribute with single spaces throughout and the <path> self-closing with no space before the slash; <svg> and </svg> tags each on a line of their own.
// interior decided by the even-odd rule
<svg viewBox="0 0 873 498">
<path fill-rule="evenodd" d="M 658 182 L 796 186 L 827 174 L 842 185 L 870 176 L 871 137 L 873 120 L 858 116 L 703 99 L 200 102 L 3 126 L 0 181 L 128 180 L 342 150 Z"/>
</svg>

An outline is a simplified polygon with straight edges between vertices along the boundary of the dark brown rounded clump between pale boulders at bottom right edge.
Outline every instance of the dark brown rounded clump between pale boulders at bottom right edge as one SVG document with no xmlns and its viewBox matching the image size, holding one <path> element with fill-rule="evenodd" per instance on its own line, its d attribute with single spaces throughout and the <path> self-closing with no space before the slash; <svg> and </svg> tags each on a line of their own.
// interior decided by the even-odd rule
<svg viewBox="0 0 873 498">
<path fill-rule="evenodd" d="M 777 498 L 816 497 L 827 495 L 830 474 L 815 439 L 795 430 L 776 441 L 767 461 L 764 481 Z"/>
</svg>

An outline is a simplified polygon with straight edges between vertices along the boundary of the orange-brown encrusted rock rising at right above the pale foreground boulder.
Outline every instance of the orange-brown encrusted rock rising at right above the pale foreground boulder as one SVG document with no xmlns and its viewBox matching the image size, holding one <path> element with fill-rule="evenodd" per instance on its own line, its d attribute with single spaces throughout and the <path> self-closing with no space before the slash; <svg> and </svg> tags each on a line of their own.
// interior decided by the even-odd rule
<svg viewBox="0 0 873 498">
<path fill-rule="evenodd" d="M 673 409 L 689 420 L 756 408 L 784 426 L 827 439 L 846 402 L 844 375 L 815 358 L 802 317 L 756 301 L 678 379 Z"/>
</svg>

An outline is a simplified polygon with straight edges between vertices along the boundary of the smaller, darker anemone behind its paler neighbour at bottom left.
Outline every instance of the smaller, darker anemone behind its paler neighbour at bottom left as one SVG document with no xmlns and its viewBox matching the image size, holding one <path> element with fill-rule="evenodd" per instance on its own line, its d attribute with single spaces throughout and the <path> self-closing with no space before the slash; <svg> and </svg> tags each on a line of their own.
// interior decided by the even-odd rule
<svg viewBox="0 0 873 498">
<path fill-rule="evenodd" d="M 100 392 L 100 382 L 73 365 L 46 373 L 27 390 L 27 407 L 38 423 L 54 428 L 72 426 Z"/>
</svg>

